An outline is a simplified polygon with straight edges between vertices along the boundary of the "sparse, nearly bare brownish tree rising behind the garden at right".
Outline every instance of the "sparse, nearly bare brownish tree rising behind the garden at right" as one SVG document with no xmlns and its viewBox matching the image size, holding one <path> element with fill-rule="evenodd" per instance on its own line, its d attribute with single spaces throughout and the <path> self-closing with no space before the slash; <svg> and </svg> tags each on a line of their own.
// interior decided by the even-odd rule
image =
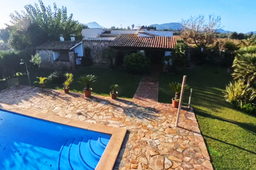
<svg viewBox="0 0 256 170">
<path fill-rule="evenodd" d="M 214 43 L 216 30 L 221 28 L 221 17 L 214 14 L 208 15 L 208 19 L 204 15 L 191 16 L 180 23 L 184 26 L 181 37 L 188 43 L 204 47 Z"/>
</svg>

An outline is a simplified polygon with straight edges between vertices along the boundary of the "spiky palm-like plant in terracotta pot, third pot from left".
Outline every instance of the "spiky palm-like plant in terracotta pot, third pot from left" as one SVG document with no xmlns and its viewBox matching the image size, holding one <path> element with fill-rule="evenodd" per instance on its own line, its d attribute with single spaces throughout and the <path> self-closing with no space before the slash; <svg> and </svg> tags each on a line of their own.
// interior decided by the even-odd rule
<svg viewBox="0 0 256 170">
<path fill-rule="evenodd" d="M 95 77 L 94 75 L 81 75 L 80 76 L 78 82 L 81 82 L 81 83 L 85 84 L 85 88 L 83 89 L 85 97 L 90 97 L 91 96 L 92 88 L 90 88 L 90 83 L 92 83 L 96 80 L 97 80 L 97 77 Z"/>
</svg>

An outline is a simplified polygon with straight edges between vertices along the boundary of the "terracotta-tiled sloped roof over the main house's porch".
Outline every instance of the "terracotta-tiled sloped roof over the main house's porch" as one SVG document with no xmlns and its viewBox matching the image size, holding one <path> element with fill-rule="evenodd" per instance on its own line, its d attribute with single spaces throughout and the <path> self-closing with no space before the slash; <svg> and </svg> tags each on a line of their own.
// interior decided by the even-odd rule
<svg viewBox="0 0 256 170">
<path fill-rule="evenodd" d="M 109 46 L 112 47 L 146 47 L 171 49 L 177 44 L 176 37 L 171 36 L 139 36 L 137 33 L 121 33 Z"/>
</svg>

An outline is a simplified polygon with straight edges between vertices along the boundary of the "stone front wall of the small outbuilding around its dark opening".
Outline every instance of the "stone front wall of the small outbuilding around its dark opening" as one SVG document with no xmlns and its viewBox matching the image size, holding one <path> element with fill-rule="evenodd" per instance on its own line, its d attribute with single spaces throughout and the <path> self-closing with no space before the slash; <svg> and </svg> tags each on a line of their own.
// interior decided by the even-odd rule
<svg viewBox="0 0 256 170">
<path fill-rule="evenodd" d="M 68 69 L 75 68 L 74 52 L 69 52 L 69 61 L 53 60 L 52 50 L 37 50 L 36 52 L 39 53 L 39 55 L 42 58 L 42 62 L 40 64 L 41 68 L 50 68 L 50 69 L 62 69 L 63 67 L 66 67 Z"/>
</svg>

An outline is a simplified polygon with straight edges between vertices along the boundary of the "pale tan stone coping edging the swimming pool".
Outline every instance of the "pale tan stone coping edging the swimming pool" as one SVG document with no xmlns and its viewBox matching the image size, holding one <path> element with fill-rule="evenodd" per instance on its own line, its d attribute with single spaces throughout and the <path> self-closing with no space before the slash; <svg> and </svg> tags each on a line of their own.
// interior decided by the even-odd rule
<svg viewBox="0 0 256 170">
<path fill-rule="evenodd" d="M 17 106 L 0 103 L 0 109 L 7 111 L 12 111 L 18 114 L 39 118 L 43 120 L 52 121 L 55 123 L 70 125 L 73 127 L 78 127 L 82 129 L 97 131 L 101 133 L 110 134 L 111 138 L 95 168 L 95 170 L 112 170 L 119 154 L 123 139 L 125 137 L 127 129 L 120 127 L 113 127 L 103 124 L 97 124 L 92 122 L 86 122 L 81 120 L 76 120 L 68 117 L 61 117 L 57 115 L 51 115 L 47 113 L 40 112 L 38 110 L 30 110 L 26 108 L 20 108 Z"/>
</svg>

